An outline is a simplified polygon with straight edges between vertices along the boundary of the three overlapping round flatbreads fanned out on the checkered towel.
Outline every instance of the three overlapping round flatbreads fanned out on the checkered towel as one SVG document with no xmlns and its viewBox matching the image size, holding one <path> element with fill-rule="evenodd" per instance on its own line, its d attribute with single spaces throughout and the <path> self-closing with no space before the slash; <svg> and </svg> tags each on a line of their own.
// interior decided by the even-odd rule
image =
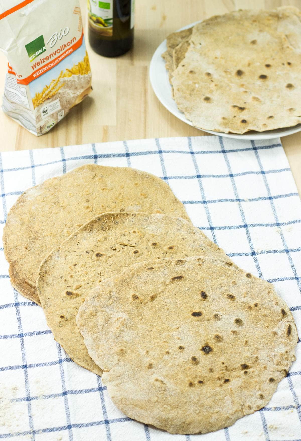
<svg viewBox="0 0 301 441">
<path fill-rule="evenodd" d="M 295 360 L 273 286 L 149 173 L 88 164 L 48 179 L 19 197 L 3 239 L 12 285 L 130 418 L 172 434 L 227 427 L 267 404 Z"/>
</svg>

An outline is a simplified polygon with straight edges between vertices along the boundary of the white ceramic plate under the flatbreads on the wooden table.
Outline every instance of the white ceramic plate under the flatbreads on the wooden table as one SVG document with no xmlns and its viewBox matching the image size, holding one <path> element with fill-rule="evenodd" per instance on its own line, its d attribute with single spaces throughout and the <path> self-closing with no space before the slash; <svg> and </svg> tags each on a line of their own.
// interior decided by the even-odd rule
<svg viewBox="0 0 301 441">
<path fill-rule="evenodd" d="M 183 28 L 178 29 L 183 30 L 187 29 L 191 26 L 194 26 L 198 22 L 191 23 L 190 25 L 183 26 Z M 166 40 L 162 41 L 162 43 L 157 47 L 156 51 L 154 52 L 151 60 L 151 64 L 149 67 L 149 77 L 150 82 L 152 85 L 152 89 L 156 94 L 156 97 L 161 102 L 161 104 L 164 105 L 165 108 L 169 112 L 171 112 L 174 116 L 179 118 L 179 120 L 184 121 L 184 123 L 189 124 L 190 126 L 193 126 L 193 123 L 191 121 L 187 120 L 184 113 L 180 112 L 177 108 L 177 105 L 175 104 L 175 101 L 171 97 L 171 85 L 168 81 L 168 72 L 165 69 L 165 61 L 161 57 L 163 52 L 165 52 L 167 49 L 166 47 Z M 198 127 L 197 127 L 198 128 Z M 201 129 L 199 129 L 201 130 Z M 255 131 L 249 131 L 244 135 L 235 135 L 233 133 L 221 133 L 221 132 L 214 132 L 211 130 L 204 130 L 202 131 L 207 133 L 212 133 L 213 135 L 219 135 L 219 136 L 225 136 L 226 138 L 236 138 L 236 139 L 274 139 L 279 138 L 282 136 L 292 135 L 293 133 L 297 133 L 301 131 L 301 124 L 298 124 L 294 127 L 285 127 L 283 129 L 276 129 L 276 130 L 269 130 L 264 132 L 255 132 Z"/>
</svg>

